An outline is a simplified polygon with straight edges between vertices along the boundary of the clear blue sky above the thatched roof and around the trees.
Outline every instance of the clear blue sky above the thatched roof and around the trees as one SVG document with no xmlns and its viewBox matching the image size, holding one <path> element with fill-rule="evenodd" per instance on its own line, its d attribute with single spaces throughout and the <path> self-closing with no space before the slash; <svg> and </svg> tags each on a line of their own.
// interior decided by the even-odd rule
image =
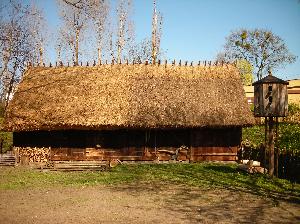
<svg viewBox="0 0 300 224">
<path fill-rule="evenodd" d="M 282 79 L 300 78 L 300 0 L 156 0 L 163 15 L 161 48 L 168 60 L 214 60 L 231 31 L 270 29 L 280 36 L 294 64 L 274 71 Z M 49 26 L 59 26 L 56 0 L 37 0 Z M 136 38 L 151 36 L 152 0 L 133 0 Z M 52 58 L 51 58 L 52 57 Z M 55 60 L 54 51 L 50 60 Z"/>
</svg>

